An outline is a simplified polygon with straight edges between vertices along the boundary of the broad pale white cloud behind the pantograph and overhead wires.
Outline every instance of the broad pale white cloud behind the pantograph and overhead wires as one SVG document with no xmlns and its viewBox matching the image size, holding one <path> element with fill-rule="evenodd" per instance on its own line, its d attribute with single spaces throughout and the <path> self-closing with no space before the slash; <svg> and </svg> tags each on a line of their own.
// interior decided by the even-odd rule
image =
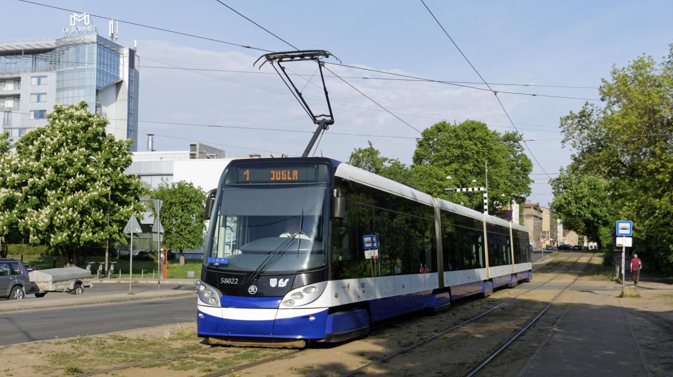
<svg viewBox="0 0 673 377">
<path fill-rule="evenodd" d="M 252 67 L 256 54 L 242 52 L 217 52 L 186 46 L 178 46 L 164 41 L 139 42 L 141 56 L 140 120 L 160 120 L 194 124 L 218 124 L 225 126 L 254 126 L 262 128 L 282 128 L 312 132 L 314 124 L 299 103 L 277 75 L 255 75 L 250 73 L 221 73 L 184 71 L 177 69 L 154 69 L 143 66 L 164 66 L 151 59 L 185 68 L 226 69 L 232 71 L 258 71 Z M 304 67 L 288 64 L 292 71 L 311 75 L 315 65 Z M 381 77 L 357 69 L 327 66 L 340 76 Z M 367 67 L 376 69 L 375 67 Z M 274 73 L 267 63 L 259 72 Z M 390 72 L 406 75 L 401 69 Z M 325 75 L 331 75 L 325 71 Z M 293 77 L 297 87 L 304 87 L 304 79 Z M 423 130 L 439 120 L 493 120 L 493 126 L 506 126 L 506 118 L 489 91 L 479 91 L 464 87 L 454 87 L 439 83 L 419 83 L 414 81 L 387 81 L 346 79 L 363 93 L 385 106 L 391 112 L 415 128 Z M 319 83 L 314 77 L 312 82 Z M 415 149 L 414 137 L 419 134 L 388 114 L 369 99 L 353 90 L 343 81 L 327 77 L 326 83 L 332 100 L 335 123 L 318 146 L 318 153 L 345 161 L 353 148 L 365 146 L 367 140 L 381 150 L 383 155 L 395 157 L 405 163 L 411 162 Z M 321 114 L 324 102 L 322 89 L 312 84 L 304 89 L 308 101 Z M 529 99 L 507 97 L 510 112 L 516 111 Z M 318 105 L 320 109 L 318 109 Z M 245 155 L 248 149 L 260 149 L 286 154 L 300 154 L 310 139 L 310 133 L 269 132 L 240 130 L 234 128 L 208 128 L 200 126 L 164 125 L 142 123 L 141 132 L 153 132 L 181 138 L 190 138 L 221 146 L 227 153 Z M 504 131 L 507 128 L 495 127 Z M 408 136 L 412 139 L 374 138 L 365 136 L 340 136 L 330 132 L 357 134 L 384 134 Z M 547 132 L 542 132 L 548 136 Z M 555 135 L 555 134 L 552 134 Z M 143 136 L 139 136 L 142 138 Z M 141 146 L 143 140 L 139 140 Z M 155 147 L 160 150 L 186 149 L 188 141 L 156 136 Z M 232 146 L 237 146 L 234 148 Z"/>
</svg>

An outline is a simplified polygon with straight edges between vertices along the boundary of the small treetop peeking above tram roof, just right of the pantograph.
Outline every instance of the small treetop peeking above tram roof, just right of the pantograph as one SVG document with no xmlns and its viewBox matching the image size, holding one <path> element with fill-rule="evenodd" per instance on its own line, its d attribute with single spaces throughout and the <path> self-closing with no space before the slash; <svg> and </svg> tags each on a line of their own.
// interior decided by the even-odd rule
<svg viewBox="0 0 673 377">
<path fill-rule="evenodd" d="M 371 173 L 381 175 L 393 181 L 409 183 L 411 177 L 409 167 L 398 159 L 382 157 L 380 151 L 374 148 L 374 144 L 371 144 L 371 141 L 367 140 L 367 144 L 369 144 L 367 148 L 353 149 L 351 158 L 348 160 L 350 165 L 371 171 Z"/>
</svg>

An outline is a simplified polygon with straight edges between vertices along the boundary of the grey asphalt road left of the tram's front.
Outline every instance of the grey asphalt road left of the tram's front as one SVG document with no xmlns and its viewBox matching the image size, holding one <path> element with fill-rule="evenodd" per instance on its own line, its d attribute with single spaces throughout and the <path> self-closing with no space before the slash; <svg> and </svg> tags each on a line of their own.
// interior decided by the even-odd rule
<svg viewBox="0 0 673 377">
<path fill-rule="evenodd" d="M 5 312 L 0 315 L 0 345 L 193 322 L 196 310 L 194 297 L 182 297 Z"/>
</svg>

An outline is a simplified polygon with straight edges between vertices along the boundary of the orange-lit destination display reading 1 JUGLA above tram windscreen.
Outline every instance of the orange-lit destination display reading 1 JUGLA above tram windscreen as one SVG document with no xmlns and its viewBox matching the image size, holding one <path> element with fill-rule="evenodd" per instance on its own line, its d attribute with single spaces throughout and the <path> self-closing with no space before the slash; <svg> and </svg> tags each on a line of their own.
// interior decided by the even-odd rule
<svg viewBox="0 0 673 377">
<path fill-rule="evenodd" d="M 293 183 L 315 182 L 318 167 L 313 166 L 259 166 L 237 167 L 236 183 Z"/>
</svg>

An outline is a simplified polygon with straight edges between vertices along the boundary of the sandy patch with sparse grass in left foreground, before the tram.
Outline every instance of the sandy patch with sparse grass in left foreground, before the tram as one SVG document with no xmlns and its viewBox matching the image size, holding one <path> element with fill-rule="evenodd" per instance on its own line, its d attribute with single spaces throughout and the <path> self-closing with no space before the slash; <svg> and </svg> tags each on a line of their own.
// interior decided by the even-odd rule
<svg viewBox="0 0 673 377">
<path fill-rule="evenodd" d="M 188 323 L 9 345 L 0 347 L 0 371 L 3 376 L 15 377 L 38 374 L 73 376 L 197 351 L 178 358 L 102 374 L 177 377 L 235 368 L 282 351 L 254 347 L 210 347 L 197 338 L 195 331 L 196 324 Z"/>
</svg>

